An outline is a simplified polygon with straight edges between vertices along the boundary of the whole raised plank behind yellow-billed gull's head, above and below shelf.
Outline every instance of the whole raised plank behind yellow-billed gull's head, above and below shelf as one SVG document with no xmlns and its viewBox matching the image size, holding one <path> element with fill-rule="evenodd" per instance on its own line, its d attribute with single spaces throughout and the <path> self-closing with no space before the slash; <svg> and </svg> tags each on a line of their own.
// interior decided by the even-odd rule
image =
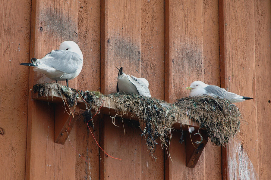
<svg viewBox="0 0 271 180">
<path fill-rule="evenodd" d="M 184 89 L 203 80 L 203 2 L 165 1 L 165 100 L 188 96 Z M 166 156 L 165 179 L 205 179 L 204 152 L 195 168 L 186 167 L 184 144 L 180 135 L 171 140 Z"/>
</svg>

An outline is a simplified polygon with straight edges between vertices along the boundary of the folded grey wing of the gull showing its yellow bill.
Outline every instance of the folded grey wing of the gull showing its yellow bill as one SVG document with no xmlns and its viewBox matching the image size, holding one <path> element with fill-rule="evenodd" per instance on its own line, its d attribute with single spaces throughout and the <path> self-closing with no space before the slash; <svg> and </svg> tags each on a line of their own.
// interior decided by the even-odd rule
<svg viewBox="0 0 271 180">
<path fill-rule="evenodd" d="M 239 95 L 232 92 L 228 92 L 224 88 L 220 88 L 216 85 L 208 85 L 204 89 L 207 95 L 210 94 L 213 96 L 218 96 L 219 98 L 225 98 L 225 99 L 231 100 L 231 99 L 240 97 Z"/>
</svg>

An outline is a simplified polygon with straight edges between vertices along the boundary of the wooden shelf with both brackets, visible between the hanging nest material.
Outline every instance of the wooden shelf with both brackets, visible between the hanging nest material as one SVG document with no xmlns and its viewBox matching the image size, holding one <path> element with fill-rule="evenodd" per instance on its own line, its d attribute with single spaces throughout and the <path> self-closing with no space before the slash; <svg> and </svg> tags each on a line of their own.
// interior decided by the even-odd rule
<svg viewBox="0 0 271 180">
<path fill-rule="evenodd" d="M 68 88 L 69 89 L 69 88 Z M 68 138 L 67 131 L 71 132 L 72 127 L 74 126 L 76 122 L 76 116 L 79 115 L 79 110 L 86 110 L 86 104 L 85 101 L 79 97 L 77 99 L 77 105 L 74 107 L 70 107 L 70 109 L 67 109 L 67 105 L 64 104 L 61 95 L 59 94 L 58 87 L 56 83 L 49 84 L 46 86 L 46 96 L 40 95 L 39 93 L 32 92 L 32 99 L 38 100 L 38 101 L 45 101 L 48 103 L 54 104 L 55 107 L 55 143 L 64 144 L 65 141 Z M 104 103 L 100 109 L 100 112 L 102 114 L 115 116 L 116 115 L 116 104 L 114 101 L 112 101 L 110 98 L 105 97 Z M 66 109 L 65 109 L 66 108 Z M 72 114 L 69 114 L 68 112 L 71 110 Z M 67 112 L 68 111 L 68 112 Z M 117 115 L 118 117 L 122 116 L 124 119 L 132 119 L 135 121 L 139 121 L 137 117 L 131 117 L 131 114 L 121 114 L 121 112 L 118 111 Z M 75 117 L 75 118 L 74 118 Z M 68 129 L 69 126 L 69 129 Z M 193 126 L 195 128 L 195 133 L 198 131 L 199 126 L 197 123 L 193 122 L 191 119 L 189 119 L 187 116 L 184 116 L 178 123 L 175 123 L 173 125 L 173 128 L 176 130 L 182 129 L 185 131 L 185 145 L 186 145 L 186 163 L 187 167 L 195 167 L 197 164 L 197 161 L 205 147 L 205 145 L 208 142 L 208 137 L 206 135 L 206 132 L 204 130 L 200 131 L 200 134 L 203 137 L 203 141 L 200 144 L 192 144 L 190 135 L 188 132 L 188 127 Z M 194 133 L 191 133 L 192 141 L 200 141 L 201 137 L 199 135 L 194 135 Z M 197 148 L 195 148 L 196 146 Z"/>
</svg>

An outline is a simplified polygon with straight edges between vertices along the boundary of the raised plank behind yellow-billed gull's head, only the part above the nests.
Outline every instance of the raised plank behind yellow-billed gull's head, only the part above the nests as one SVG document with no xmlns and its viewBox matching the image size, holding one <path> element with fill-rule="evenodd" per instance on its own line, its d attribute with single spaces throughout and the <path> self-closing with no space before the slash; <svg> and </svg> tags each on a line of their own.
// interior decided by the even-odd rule
<svg viewBox="0 0 271 180">
<path fill-rule="evenodd" d="M 203 3 L 168 0 L 165 6 L 165 100 L 172 103 L 203 80 Z"/>
</svg>

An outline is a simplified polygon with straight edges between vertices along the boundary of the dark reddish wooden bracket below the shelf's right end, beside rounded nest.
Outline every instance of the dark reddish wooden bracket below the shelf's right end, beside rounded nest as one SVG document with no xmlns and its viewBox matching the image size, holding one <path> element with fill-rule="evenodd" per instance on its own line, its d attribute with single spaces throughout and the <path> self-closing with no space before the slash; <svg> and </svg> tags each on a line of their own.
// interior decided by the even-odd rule
<svg viewBox="0 0 271 180">
<path fill-rule="evenodd" d="M 195 130 L 194 132 L 192 132 L 190 134 L 191 138 L 190 138 L 188 131 L 186 131 L 184 134 L 185 135 L 185 151 L 186 151 L 186 166 L 187 167 L 195 167 L 196 166 L 196 164 L 200 158 L 200 155 L 208 142 L 208 136 L 206 134 L 206 131 L 204 131 L 204 130 L 199 131 L 200 135 L 202 136 L 202 139 L 201 139 L 200 135 L 197 134 L 196 131 L 197 130 Z M 196 135 L 194 135 L 195 133 L 196 133 Z M 200 144 L 196 144 L 196 143 L 194 143 L 196 141 L 201 141 L 201 142 L 200 142 Z M 192 144 L 192 142 L 194 145 Z"/>
</svg>

